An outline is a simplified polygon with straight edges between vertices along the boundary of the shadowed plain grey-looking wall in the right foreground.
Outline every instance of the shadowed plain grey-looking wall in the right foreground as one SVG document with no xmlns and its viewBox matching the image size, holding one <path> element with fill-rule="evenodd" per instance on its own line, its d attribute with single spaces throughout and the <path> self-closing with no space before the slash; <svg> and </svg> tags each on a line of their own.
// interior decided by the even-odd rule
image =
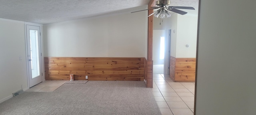
<svg viewBox="0 0 256 115">
<path fill-rule="evenodd" d="M 255 115 L 255 4 L 201 0 L 196 115 Z"/>
</svg>

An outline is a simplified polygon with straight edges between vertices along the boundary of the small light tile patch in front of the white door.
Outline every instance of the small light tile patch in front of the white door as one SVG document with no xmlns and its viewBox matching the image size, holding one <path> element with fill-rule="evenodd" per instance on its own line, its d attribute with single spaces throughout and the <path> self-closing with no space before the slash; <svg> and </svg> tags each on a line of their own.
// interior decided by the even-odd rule
<svg viewBox="0 0 256 115">
<path fill-rule="evenodd" d="M 26 92 L 52 92 L 66 82 L 66 80 L 44 81 L 26 90 Z"/>
</svg>

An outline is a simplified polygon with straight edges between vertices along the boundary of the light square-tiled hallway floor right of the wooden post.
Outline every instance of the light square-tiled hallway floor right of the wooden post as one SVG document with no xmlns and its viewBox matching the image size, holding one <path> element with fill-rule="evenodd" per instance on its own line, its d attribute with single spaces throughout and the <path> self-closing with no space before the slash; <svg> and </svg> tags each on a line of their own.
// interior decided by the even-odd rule
<svg viewBox="0 0 256 115">
<path fill-rule="evenodd" d="M 169 75 L 154 74 L 151 89 L 162 115 L 194 115 L 195 83 L 174 82 Z"/>
</svg>

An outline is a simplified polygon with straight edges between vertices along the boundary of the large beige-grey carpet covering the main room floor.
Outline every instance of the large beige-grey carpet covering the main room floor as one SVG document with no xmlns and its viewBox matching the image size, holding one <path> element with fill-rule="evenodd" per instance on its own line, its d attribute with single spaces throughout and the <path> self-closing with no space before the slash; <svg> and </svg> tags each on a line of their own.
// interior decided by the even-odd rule
<svg viewBox="0 0 256 115">
<path fill-rule="evenodd" d="M 88 81 L 53 92 L 24 92 L 0 103 L 0 115 L 161 115 L 143 81 Z"/>
</svg>

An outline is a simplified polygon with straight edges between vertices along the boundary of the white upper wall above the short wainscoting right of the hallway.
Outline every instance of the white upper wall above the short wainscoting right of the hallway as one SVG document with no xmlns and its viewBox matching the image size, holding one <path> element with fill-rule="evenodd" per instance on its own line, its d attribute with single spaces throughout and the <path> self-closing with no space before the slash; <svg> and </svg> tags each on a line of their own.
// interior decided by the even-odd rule
<svg viewBox="0 0 256 115">
<path fill-rule="evenodd" d="M 197 20 L 198 15 L 178 15 L 176 58 L 196 57 Z"/>
</svg>

